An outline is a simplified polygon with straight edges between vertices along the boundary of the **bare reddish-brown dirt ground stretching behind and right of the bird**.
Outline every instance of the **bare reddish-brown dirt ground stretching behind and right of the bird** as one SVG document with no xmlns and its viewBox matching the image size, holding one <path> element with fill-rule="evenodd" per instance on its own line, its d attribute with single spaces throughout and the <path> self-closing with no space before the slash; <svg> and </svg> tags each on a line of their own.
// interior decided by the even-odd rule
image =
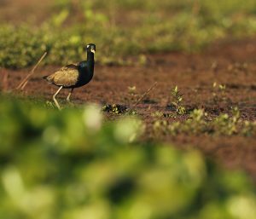
<svg viewBox="0 0 256 219">
<path fill-rule="evenodd" d="M 100 48 L 98 51 L 100 52 Z M 230 112 L 230 107 L 239 107 L 241 117 L 256 120 L 256 40 L 238 40 L 216 43 L 204 53 L 185 55 L 170 53 L 147 55 L 145 66 L 99 66 L 95 77 L 85 87 L 75 89 L 73 102 L 120 104 L 131 107 L 137 97 L 128 92 L 128 86 L 136 86 L 137 95 L 142 95 L 154 82 L 157 87 L 140 102 L 136 110 L 145 124 L 143 140 L 152 141 L 152 112 L 171 112 L 166 107 L 170 102 L 170 90 L 177 85 L 183 93 L 183 102 L 188 109 L 203 107 L 212 116 Z M 55 71 L 55 66 L 39 67 L 27 84 L 25 95 L 51 100 L 56 88 L 45 83 L 41 77 Z M 5 89 L 14 89 L 30 69 L 12 71 L 8 74 Z M 212 84 L 225 84 L 225 101 L 213 101 Z M 65 102 L 67 90 L 59 100 Z M 109 118 L 115 118 L 107 113 Z M 178 118 L 182 119 L 182 118 Z M 172 142 L 179 148 L 195 147 L 210 158 L 231 169 L 242 169 L 256 181 L 256 139 L 254 137 L 212 135 L 160 135 L 159 141 Z"/>
</svg>

